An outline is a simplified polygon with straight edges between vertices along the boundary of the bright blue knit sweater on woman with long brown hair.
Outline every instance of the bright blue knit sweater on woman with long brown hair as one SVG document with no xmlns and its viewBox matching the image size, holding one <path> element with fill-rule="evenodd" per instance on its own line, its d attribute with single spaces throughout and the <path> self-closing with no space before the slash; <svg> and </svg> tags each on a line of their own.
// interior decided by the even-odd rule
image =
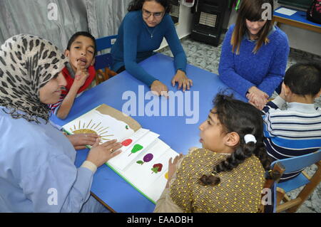
<svg viewBox="0 0 321 227">
<path fill-rule="evenodd" d="M 263 44 L 257 53 L 253 53 L 256 42 L 245 36 L 240 54 L 236 55 L 230 45 L 234 27 L 230 26 L 223 41 L 218 67 L 220 80 L 243 96 L 253 86 L 271 96 L 285 75 L 290 52 L 287 35 L 275 26 L 275 31 L 267 36 L 270 43 Z"/>
</svg>

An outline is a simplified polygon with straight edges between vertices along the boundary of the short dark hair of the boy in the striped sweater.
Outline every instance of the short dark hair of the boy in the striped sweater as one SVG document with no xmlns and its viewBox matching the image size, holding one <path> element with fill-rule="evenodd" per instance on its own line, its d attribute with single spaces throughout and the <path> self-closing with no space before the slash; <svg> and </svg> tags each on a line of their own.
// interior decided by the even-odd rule
<svg viewBox="0 0 321 227">
<path fill-rule="evenodd" d="M 321 89 L 321 66 L 317 63 L 297 63 L 285 73 L 284 83 L 296 95 L 315 96 Z"/>
</svg>

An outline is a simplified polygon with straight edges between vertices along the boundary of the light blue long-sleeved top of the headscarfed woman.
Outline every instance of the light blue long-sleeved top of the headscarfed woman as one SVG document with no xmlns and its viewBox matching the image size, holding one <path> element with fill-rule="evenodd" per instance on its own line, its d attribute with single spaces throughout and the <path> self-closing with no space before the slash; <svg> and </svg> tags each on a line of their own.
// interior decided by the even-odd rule
<svg viewBox="0 0 321 227">
<path fill-rule="evenodd" d="M 39 121 L 14 119 L 0 107 L 0 212 L 79 212 L 93 171 L 77 169 L 71 142 Z"/>
</svg>

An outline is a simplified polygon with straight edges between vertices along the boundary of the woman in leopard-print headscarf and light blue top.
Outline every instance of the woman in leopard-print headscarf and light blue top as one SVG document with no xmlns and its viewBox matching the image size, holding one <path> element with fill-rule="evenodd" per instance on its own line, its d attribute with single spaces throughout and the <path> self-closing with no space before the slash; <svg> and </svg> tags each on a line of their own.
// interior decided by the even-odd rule
<svg viewBox="0 0 321 227">
<path fill-rule="evenodd" d="M 75 167 L 75 149 L 49 123 L 47 106 L 66 85 L 66 61 L 36 36 L 13 36 L 0 48 L 0 212 L 103 211 L 90 196 L 93 174 L 121 144 L 97 139 Z"/>
</svg>

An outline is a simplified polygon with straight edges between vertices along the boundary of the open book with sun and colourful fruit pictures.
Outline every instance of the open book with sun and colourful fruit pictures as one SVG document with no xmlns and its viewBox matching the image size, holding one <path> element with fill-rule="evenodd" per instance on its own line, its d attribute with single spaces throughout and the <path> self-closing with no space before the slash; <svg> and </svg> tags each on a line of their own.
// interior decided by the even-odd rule
<svg viewBox="0 0 321 227">
<path fill-rule="evenodd" d="M 63 125 L 63 130 L 68 134 L 96 133 L 102 142 L 121 142 L 121 154 L 106 164 L 156 204 L 168 179 L 168 159 L 178 155 L 158 139 L 159 134 L 143 129 L 133 118 L 105 104 Z"/>
</svg>

